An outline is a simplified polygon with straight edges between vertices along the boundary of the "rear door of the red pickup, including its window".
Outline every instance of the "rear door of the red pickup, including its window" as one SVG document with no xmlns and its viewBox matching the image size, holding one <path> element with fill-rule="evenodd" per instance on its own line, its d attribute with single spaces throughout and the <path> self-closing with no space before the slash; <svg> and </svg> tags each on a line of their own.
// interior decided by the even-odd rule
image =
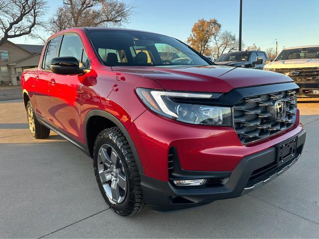
<svg viewBox="0 0 319 239">
<path fill-rule="evenodd" d="M 44 51 L 42 62 L 38 71 L 38 74 L 35 77 L 35 90 L 34 98 L 36 102 L 35 112 L 37 116 L 43 121 L 53 124 L 53 119 L 49 113 L 50 105 L 50 77 L 51 70 L 50 64 L 52 58 L 56 57 L 58 52 L 58 46 L 60 43 L 61 36 L 57 36 L 51 39 L 46 44 L 46 49 Z"/>
</svg>

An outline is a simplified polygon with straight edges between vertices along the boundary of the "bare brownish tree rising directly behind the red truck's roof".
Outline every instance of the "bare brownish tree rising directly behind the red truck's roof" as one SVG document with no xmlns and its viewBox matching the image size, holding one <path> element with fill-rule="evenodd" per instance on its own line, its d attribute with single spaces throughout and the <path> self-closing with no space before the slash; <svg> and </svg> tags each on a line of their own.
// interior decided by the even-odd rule
<svg viewBox="0 0 319 239">
<path fill-rule="evenodd" d="M 121 26 L 135 6 L 120 0 L 64 0 L 50 18 L 51 31 L 81 26 Z"/>
</svg>

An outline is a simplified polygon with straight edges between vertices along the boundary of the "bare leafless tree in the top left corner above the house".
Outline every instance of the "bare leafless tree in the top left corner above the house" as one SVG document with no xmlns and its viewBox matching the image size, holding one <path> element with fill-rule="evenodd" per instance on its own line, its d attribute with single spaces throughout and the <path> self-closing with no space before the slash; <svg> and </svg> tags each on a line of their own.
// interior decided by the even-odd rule
<svg viewBox="0 0 319 239">
<path fill-rule="evenodd" d="M 41 22 L 46 4 L 45 0 L 0 0 L 0 45 L 30 34 Z"/>
</svg>

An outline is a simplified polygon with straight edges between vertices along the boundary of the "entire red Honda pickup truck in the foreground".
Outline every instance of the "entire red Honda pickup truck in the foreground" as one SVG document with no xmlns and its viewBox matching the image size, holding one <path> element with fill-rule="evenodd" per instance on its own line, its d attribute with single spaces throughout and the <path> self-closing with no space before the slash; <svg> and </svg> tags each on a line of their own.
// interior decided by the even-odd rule
<svg viewBox="0 0 319 239">
<path fill-rule="evenodd" d="M 306 140 L 291 78 L 216 66 L 160 34 L 58 32 L 21 83 L 33 137 L 52 130 L 92 157 L 121 216 L 239 197 L 290 168 Z"/>
</svg>

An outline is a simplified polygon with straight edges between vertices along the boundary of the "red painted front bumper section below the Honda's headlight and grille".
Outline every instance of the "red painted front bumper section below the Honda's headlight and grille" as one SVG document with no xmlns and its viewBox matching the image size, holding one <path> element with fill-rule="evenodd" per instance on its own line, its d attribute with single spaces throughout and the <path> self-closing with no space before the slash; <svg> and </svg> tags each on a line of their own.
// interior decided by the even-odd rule
<svg viewBox="0 0 319 239">
<path fill-rule="evenodd" d="M 232 171 L 244 157 L 270 148 L 302 130 L 298 113 L 295 125 L 287 131 L 255 145 L 243 146 L 231 127 L 196 126 L 146 111 L 134 121 L 129 133 L 138 149 L 145 174 L 167 181 L 170 147 L 176 147 L 184 170 Z"/>
</svg>

